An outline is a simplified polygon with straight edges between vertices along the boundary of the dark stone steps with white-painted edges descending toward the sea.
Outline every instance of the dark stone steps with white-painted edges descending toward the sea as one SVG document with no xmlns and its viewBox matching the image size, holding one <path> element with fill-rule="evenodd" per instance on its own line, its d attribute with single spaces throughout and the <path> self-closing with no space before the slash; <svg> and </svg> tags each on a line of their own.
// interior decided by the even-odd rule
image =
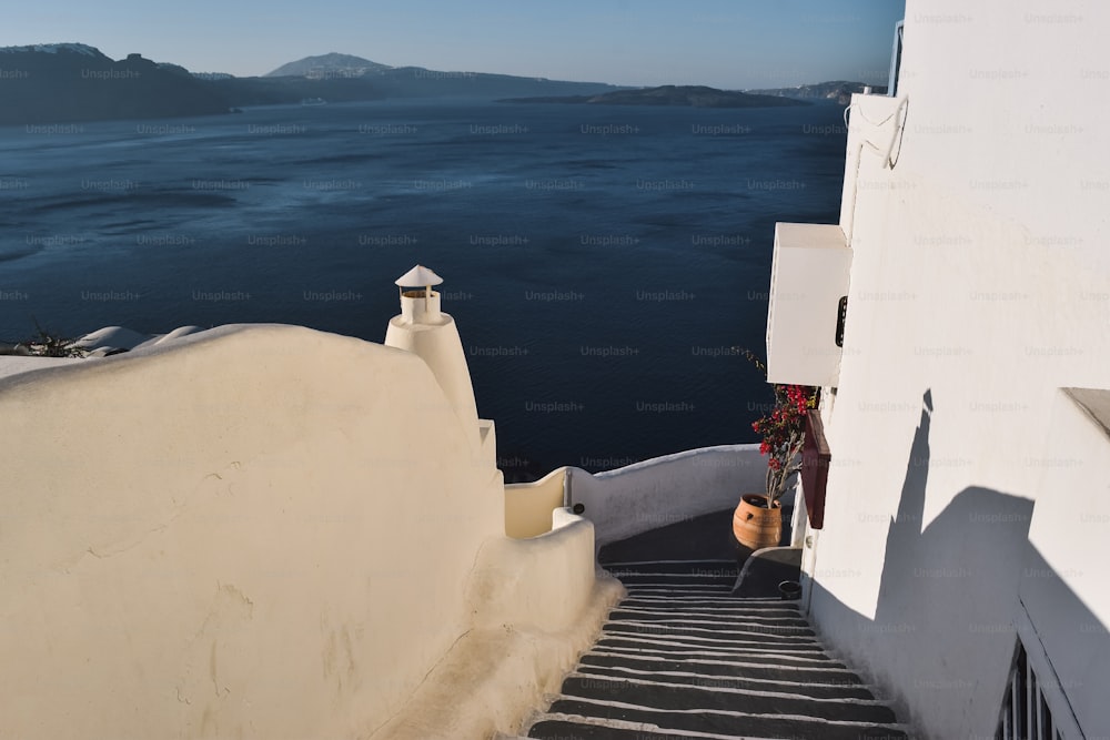
<svg viewBox="0 0 1110 740">
<path fill-rule="evenodd" d="M 628 590 L 525 736 L 545 740 L 909 738 L 794 601 L 733 596 L 736 560 L 603 565 Z"/>
</svg>

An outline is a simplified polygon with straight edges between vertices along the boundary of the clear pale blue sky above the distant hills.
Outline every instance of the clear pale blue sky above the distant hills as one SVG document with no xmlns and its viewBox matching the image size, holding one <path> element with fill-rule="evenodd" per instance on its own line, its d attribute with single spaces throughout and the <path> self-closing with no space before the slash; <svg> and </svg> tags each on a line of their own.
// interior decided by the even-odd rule
<svg viewBox="0 0 1110 740">
<path fill-rule="evenodd" d="M 393 67 L 744 90 L 884 83 L 905 0 L 51 0 L 0 47 L 77 41 L 194 72 L 264 74 L 327 52 Z"/>
</svg>

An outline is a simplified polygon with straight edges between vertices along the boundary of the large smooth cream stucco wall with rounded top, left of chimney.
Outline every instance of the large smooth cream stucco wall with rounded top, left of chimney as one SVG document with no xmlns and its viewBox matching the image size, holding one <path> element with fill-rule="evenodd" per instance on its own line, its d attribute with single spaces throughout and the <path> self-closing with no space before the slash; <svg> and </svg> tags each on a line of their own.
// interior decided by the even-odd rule
<svg viewBox="0 0 1110 740">
<path fill-rule="evenodd" d="M 224 327 L 8 378 L 0 418 L 3 737 L 372 737 L 509 645 L 477 624 L 541 629 L 475 590 L 502 477 L 410 353 Z M 533 588 L 591 604 L 572 559 Z"/>
</svg>

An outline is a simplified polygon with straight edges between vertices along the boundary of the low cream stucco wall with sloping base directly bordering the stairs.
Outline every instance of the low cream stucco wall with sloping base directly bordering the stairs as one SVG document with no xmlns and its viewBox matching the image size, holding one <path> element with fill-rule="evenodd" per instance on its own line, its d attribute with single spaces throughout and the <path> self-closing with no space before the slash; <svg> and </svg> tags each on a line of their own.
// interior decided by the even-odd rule
<svg viewBox="0 0 1110 740">
<path fill-rule="evenodd" d="M 483 547 L 470 580 L 472 629 L 374 740 L 515 737 L 558 692 L 625 591 L 596 570 L 592 523 L 562 508 L 548 517 L 549 533 Z"/>
</svg>

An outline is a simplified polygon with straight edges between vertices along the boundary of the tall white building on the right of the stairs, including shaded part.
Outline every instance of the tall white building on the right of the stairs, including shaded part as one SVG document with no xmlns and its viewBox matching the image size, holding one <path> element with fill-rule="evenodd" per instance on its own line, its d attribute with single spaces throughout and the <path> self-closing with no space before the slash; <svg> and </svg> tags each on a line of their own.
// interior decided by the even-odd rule
<svg viewBox="0 0 1110 740">
<path fill-rule="evenodd" d="M 817 239 L 850 267 L 776 267 L 771 379 L 834 376 L 806 598 L 929 738 L 1107 738 L 1110 7 L 988 4 L 907 2 Z"/>
</svg>

